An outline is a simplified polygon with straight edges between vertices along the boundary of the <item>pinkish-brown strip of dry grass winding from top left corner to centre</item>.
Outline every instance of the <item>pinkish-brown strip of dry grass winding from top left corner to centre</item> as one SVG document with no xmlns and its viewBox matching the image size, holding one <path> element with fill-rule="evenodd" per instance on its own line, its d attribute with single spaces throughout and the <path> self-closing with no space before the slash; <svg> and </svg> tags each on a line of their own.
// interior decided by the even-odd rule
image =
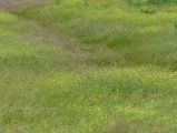
<svg viewBox="0 0 177 133">
<path fill-rule="evenodd" d="M 50 0 L 0 0 L 0 9 L 2 11 L 17 16 L 21 19 L 21 21 L 29 21 L 31 23 L 35 23 L 35 25 L 37 24 L 37 27 L 40 27 L 40 29 L 38 30 L 26 32 L 23 35 L 21 35 L 22 41 L 35 40 L 39 43 L 48 43 L 56 47 L 62 47 L 69 51 L 66 58 L 60 61 L 61 66 L 69 66 L 75 69 L 88 68 L 88 64 L 85 60 L 97 60 L 97 57 L 95 57 L 90 52 L 87 52 L 90 51 L 92 47 L 81 45 L 75 39 L 70 39 L 69 37 L 56 32 L 53 29 L 50 29 L 48 27 L 43 27 L 42 24 L 40 24 L 40 22 L 43 21 L 42 19 L 39 22 L 33 19 L 18 16 L 18 13 L 16 13 L 18 10 L 24 10 L 33 6 L 47 3 Z"/>
</svg>

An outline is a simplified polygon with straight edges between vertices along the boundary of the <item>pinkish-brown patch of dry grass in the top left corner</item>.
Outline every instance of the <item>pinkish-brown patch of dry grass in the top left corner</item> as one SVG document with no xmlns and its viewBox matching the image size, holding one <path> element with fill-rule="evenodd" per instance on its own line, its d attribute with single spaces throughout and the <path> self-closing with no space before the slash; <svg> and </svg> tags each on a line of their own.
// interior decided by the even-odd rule
<svg viewBox="0 0 177 133">
<path fill-rule="evenodd" d="M 0 10 L 13 11 L 20 8 L 36 6 L 49 0 L 0 0 Z"/>
</svg>

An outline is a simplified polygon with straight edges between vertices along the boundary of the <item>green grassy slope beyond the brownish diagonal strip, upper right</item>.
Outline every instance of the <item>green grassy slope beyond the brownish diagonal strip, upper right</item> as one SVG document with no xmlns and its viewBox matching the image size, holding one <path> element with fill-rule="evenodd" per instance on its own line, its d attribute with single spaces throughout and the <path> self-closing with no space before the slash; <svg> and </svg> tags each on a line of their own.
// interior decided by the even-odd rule
<svg viewBox="0 0 177 133">
<path fill-rule="evenodd" d="M 177 17 L 174 4 L 127 7 L 119 1 L 92 0 L 87 3 L 86 6 L 81 0 L 61 0 L 59 4 L 51 2 L 16 14 L 38 21 L 41 25 L 52 29 L 56 33 L 63 33 L 79 43 L 111 51 L 115 54 L 114 64 L 156 64 L 165 68 L 174 64 L 170 62 L 173 59 L 169 59 L 177 49 Z M 41 19 L 43 21 L 40 21 Z M 99 58 L 97 50 L 91 54 Z M 108 58 L 100 59 L 100 62 L 91 60 L 100 65 L 105 60 L 111 62 Z"/>
</svg>

